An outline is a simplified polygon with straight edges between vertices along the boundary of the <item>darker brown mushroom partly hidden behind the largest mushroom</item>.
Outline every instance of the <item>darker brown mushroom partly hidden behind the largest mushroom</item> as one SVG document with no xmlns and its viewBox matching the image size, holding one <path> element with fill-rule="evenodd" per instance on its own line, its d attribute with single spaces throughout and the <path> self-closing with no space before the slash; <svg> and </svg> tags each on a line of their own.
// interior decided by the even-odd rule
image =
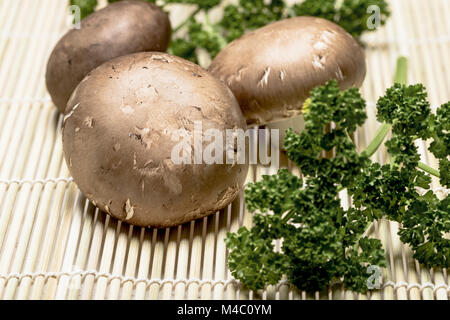
<svg viewBox="0 0 450 320">
<path fill-rule="evenodd" d="M 46 72 L 47 90 L 59 111 L 86 74 L 113 58 L 141 51 L 166 51 L 171 27 L 153 3 L 119 1 L 81 21 L 56 44 Z"/>
</svg>

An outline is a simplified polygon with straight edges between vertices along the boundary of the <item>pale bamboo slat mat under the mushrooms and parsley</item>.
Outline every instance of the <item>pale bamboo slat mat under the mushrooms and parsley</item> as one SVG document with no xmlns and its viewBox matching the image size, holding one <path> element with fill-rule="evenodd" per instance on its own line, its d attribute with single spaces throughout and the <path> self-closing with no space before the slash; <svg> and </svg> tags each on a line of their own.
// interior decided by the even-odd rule
<svg viewBox="0 0 450 320">
<path fill-rule="evenodd" d="M 362 92 L 371 103 L 356 136 L 360 148 L 375 132 L 374 102 L 391 85 L 398 55 L 409 57 L 409 82 L 424 83 L 433 106 L 450 100 L 450 1 L 390 5 L 388 24 L 364 38 L 368 74 Z M 95 209 L 71 181 L 62 156 L 62 119 L 44 83 L 48 55 L 67 29 L 66 7 L 65 0 L 0 0 L 0 298 L 449 298 L 448 271 L 420 267 L 396 235 L 396 223 L 373 225 L 389 262 L 381 290 L 362 295 L 335 286 L 309 295 L 281 282 L 257 294 L 243 290 L 226 267 L 226 232 L 251 225 L 242 195 L 220 213 L 170 229 L 133 227 Z M 424 162 L 437 167 L 425 144 L 419 150 Z M 374 157 L 387 160 L 385 150 Z M 248 181 L 267 173 L 274 172 L 252 167 Z M 345 192 L 342 202 L 349 205 Z"/>
</svg>

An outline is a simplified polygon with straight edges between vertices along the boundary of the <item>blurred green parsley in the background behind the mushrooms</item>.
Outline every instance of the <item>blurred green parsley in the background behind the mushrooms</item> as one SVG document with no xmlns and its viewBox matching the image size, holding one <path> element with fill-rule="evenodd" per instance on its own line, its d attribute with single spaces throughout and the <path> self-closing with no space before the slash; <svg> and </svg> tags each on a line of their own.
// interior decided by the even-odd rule
<svg viewBox="0 0 450 320">
<path fill-rule="evenodd" d="M 120 0 L 108 0 L 116 2 Z M 155 2 L 155 0 L 147 0 Z M 96 0 L 72 0 L 80 6 L 82 17 L 94 11 Z M 211 22 L 208 13 L 223 5 L 224 0 L 162 0 L 162 7 L 168 4 L 197 5 L 197 9 L 182 23 L 175 26 L 174 39 L 169 52 L 198 63 L 199 49 L 214 58 L 227 43 L 241 37 L 245 32 L 263 27 L 271 22 L 300 15 L 317 16 L 334 21 L 350 34 L 359 37 L 366 31 L 373 31 L 368 21 L 377 13 L 369 11 L 370 6 L 379 8 L 378 22 L 383 25 L 389 17 L 385 0 L 306 0 L 290 5 L 286 0 L 239 0 L 224 7 L 223 17 Z M 206 17 L 200 21 L 199 17 Z M 178 33 L 185 29 L 185 33 Z"/>
</svg>

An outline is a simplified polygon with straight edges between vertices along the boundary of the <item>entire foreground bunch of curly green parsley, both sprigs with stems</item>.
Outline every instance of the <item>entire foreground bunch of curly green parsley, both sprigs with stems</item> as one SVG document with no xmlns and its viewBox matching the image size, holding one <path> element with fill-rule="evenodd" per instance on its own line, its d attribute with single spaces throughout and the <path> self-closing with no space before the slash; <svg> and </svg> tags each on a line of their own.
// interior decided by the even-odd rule
<svg viewBox="0 0 450 320">
<path fill-rule="evenodd" d="M 366 292 L 367 267 L 386 263 L 381 242 L 365 236 L 379 218 L 401 223 L 400 239 L 420 263 L 450 266 L 450 240 L 444 236 L 450 231 L 450 200 L 440 200 L 430 189 L 430 175 L 421 169 L 414 145 L 417 139 L 433 140 L 430 151 L 440 159 L 441 183 L 448 183 L 450 104 L 432 114 L 424 87 L 405 85 L 404 59 L 396 78 L 377 103 L 378 120 L 385 124 L 362 153 L 350 139 L 366 119 L 358 90 L 340 91 L 335 81 L 312 90 L 305 129 L 301 134 L 288 130 L 284 141 L 303 178 L 282 169 L 245 190 L 253 226 L 226 238 L 235 278 L 253 290 L 286 276 L 308 292 L 335 281 Z M 371 162 L 369 156 L 390 127 L 392 137 L 385 145 L 391 163 Z M 322 157 L 330 152 L 332 157 Z M 347 210 L 338 198 L 344 189 L 353 203 Z"/>
</svg>

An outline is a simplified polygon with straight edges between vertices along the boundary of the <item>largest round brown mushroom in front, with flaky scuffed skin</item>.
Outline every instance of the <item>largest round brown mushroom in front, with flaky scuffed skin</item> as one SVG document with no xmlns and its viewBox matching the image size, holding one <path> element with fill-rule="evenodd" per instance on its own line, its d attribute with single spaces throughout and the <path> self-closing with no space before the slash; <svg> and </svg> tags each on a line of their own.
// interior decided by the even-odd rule
<svg viewBox="0 0 450 320">
<path fill-rule="evenodd" d="M 233 93 L 196 64 L 159 52 L 119 57 L 90 72 L 70 98 L 66 163 L 83 194 L 118 219 L 170 227 L 200 218 L 238 195 L 248 164 L 174 163 L 172 134 L 192 137 L 195 121 L 202 132 L 246 130 Z"/>
</svg>

